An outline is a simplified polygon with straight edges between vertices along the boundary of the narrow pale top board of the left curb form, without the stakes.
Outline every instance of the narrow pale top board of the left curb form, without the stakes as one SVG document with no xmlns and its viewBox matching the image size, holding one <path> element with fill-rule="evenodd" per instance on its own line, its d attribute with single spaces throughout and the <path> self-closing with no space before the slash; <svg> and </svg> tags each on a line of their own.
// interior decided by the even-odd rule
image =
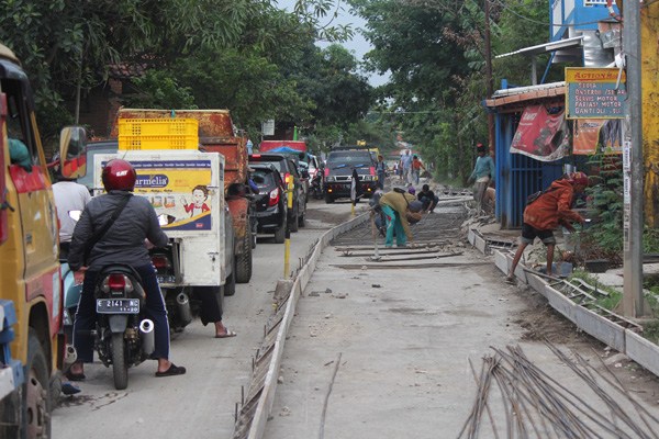
<svg viewBox="0 0 659 439">
<path fill-rule="evenodd" d="M 302 291 L 304 291 L 304 288 L 311 280 L 316 263 L 321 258 L 321 254 L 330 245 L 330 241 L 332 241 L 332 239 L 334 239 L 337 235 L 340 235 L 358 226 L 359 224 L 368 221 L 369 217 L 369 213 L 364 213 L 344 224 L 340 224 L 325 232 L 323 236 L 319 239 L 319 243 L 315 245 L 313 251 L 310 254 L 306 263 L 304 263 L 304 266 L 298 272 L 298 277 L 293 282 L 291 293 L 286 303 L 286 311 L 283 313 L 282 320 L 279 325 L 279 329 L 277 330 L 276 341 L 271 352 L 268 370 L 265 376 L 264 387 L 260 392 L 260 396 L 258 397 L 258 402 L 254 410 L 254 417 L 252 419 L 252 425 L 249 427 L 249 434 L 247 436 L 249 439 L 260 439 L 264 436 L 266 423 L 268 421 L 268 416 L 270 415 L 270 412 L 272 409 L 272 403 L 275 402 L 275 394 L 277 392 L 277 380 L 279 378 L 279 370 L 281 367 L 281 357 L 283 356 L 286 335 L 288 334 L 291 322 L 293 320 L 293 315 L 295 314 L 298 300 L 300 299 Z"/>
</svg>

